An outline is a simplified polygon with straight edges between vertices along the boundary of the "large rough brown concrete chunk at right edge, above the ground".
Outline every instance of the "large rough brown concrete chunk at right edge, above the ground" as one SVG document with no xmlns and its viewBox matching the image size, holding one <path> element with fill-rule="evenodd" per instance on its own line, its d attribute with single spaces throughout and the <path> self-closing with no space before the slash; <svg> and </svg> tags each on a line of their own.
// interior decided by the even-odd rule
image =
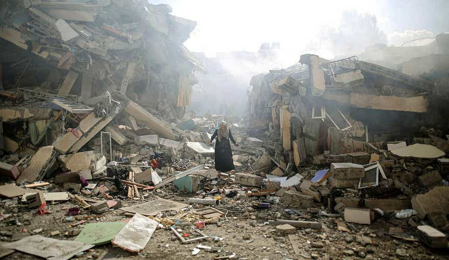
<svg viewBox="0 0 449 260">
<path fill-rule="evenodd" d="M 420 219 L 432 212 L 449 213 L 449 187 L 435 187 L 426 194 L 418 194 L 411 200 L 413 210 Z"/>
</svg>

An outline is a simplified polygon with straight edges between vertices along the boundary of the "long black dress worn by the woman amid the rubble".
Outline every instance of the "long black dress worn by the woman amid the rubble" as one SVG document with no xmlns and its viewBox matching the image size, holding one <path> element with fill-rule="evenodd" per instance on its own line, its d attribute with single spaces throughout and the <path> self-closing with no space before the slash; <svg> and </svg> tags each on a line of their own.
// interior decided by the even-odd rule
<svg viewBox="0 0 449 260">
<path fill-rule="evenodd" d="M 227 172 L 235 169 L 234 161 L 232 160 L 231 144 L 229 142 L 231 140 L 235 144 L 235 140 L 232 137 L 231 129 L 228 130 L 229 138 L 221 137 L 220 141 L 217 140 L 215 142 L 215 169 L 219 172 Z M 211 141 L 217 137 L 217 132 L 218 129 L 212 135 Z"/>
</svg>

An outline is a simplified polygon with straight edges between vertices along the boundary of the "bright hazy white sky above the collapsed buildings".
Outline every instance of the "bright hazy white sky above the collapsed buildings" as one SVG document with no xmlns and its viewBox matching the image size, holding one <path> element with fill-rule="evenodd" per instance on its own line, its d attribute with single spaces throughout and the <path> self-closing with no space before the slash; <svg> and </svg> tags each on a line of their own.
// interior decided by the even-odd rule
<svg viewBox="0 0 449 260">
<path fill-rule="evenodd" d="M 256 51 L 262 42 L 280 42 L 298 51 L 323 26 L 337 28 L 344 11 L 376 15 L 389 44 L 449 31 L 449 0 L 149 0 L 169 4 L 173 15 L 198 22 L 185 43 L 213 57 L 218 51 Z"/>
</svg>

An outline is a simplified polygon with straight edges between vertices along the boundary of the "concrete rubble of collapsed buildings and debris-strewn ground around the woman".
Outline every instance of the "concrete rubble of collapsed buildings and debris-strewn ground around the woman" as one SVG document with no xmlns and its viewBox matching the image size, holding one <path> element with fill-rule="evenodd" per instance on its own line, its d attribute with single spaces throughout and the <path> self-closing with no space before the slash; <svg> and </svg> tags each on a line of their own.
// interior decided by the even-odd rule
<svg viewBox="0 0 449 260">
<path fill-rule="evenodd" d="M 447 257 L 447 76 L 303 54 L 253 76 L 244 118 L 199 116 L 196 22 L 170 6 L 0 7 L 8 257 Z M 221 121 L 229 172 L 209 143 Z"/>
</svg>

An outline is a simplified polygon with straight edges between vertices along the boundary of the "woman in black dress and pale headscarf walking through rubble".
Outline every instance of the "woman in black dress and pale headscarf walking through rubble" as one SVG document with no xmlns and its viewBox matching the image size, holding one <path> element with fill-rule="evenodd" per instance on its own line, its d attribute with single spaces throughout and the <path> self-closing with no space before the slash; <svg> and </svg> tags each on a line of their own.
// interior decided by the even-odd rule
<svg viewBox="0 0 449 260">
<path fill-rule="evenodd" d="M 232 151 L 231 144 L 229 140 L 235 146 L 239 146 L 234 137 L 232 137 L 231 129 L 228 128 L 228 124 L 226 122 L 221 122 L 218 129 L 215 130 L 214 134 L 209 141 L 212 144 L 212 141 L 217 138 L 217 142 L 215 143 L 215 169 L 219 172 L 227 172 L 230 170 L 234 170 L 234 161 L 232 160 Z"/>
</svg>

